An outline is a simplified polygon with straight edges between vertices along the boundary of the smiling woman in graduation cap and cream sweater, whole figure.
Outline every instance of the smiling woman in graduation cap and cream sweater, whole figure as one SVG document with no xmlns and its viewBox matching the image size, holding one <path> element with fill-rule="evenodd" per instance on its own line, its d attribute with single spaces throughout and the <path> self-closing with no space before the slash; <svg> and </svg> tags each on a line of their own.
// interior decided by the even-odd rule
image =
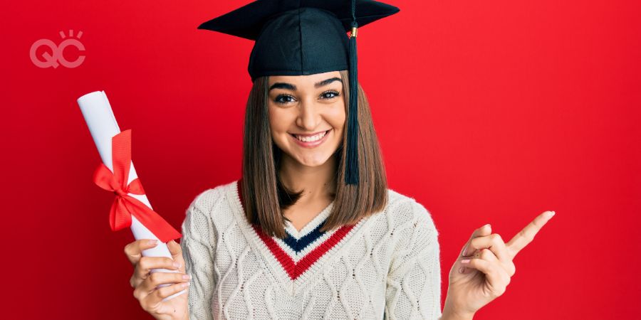
<svg viewBox="0 0 641 320">
<path fill-rule="evenodd" d="M 398 9 L 352 2 L 348 43 L 341 2 L 256 1 L 204 23 L 256 40 L 243 176 L 194 199 L 181 244 L 168 243 L 173 260 L 141 257 L 155 242 L 125 247 L 134 296 L 156 319 L 472 319 L 553 215 L 508 243 L 489 225 L 474 230 L 441 309 L 439 232 L 424 206 L 387 188 L 352 68 L 355 26 Z"/>
</svg>

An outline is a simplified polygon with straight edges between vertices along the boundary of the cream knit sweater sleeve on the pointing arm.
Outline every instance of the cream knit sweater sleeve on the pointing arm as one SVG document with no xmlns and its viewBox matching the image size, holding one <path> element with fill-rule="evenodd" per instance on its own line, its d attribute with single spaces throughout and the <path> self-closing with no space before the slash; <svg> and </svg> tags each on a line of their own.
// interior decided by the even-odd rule
<svg viewBox="0 0 641 320">
<path fill-rule="evenodd" d="M 387 274 L 385 319 L 437 320 L 441 311 L 438 231 L 429 211 L 412 201 L 414 221 L 398 243 Z"/>
</svg>

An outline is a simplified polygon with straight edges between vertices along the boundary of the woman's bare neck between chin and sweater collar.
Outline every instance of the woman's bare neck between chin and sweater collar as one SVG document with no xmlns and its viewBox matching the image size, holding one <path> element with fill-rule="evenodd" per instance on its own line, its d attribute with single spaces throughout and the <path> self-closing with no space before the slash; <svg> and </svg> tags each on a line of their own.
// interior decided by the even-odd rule
<svg viewBox="0 0 641 320">
<path fill-rule="evenodd" d="M 278 176 L 289 190 L 303 190 L 303 201 L 331 198 L 331 193 L 335 192 L 336 166 L 334 156 L 320 166 L 304 166 L 283 153 Z"/>
</svg>

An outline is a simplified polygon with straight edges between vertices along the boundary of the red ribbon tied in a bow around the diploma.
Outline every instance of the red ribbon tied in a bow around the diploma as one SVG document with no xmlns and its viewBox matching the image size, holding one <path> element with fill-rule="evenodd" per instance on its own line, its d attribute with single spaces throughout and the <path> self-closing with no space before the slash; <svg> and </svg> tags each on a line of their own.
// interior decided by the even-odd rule
<svg viewBox="0 0 641 320">
<path fill-rule="evenodd" d="M 134 215 L 142 225 L 145 225 L 162 242 L 182 237 L 158 213 L 145 205 L 145 203 L 127 194 L 145 194 L 139 178 L 135 178 L 127 185 L 131 166 L 131 129 L 113 136 L 111 146 L 113 173 L 105 164 L 100 164 L 93 173 L 93 182 L 95 184 L 107 191 L 113 191 L 116 195 L 109 213 L 111 230 L 118 231 L 129 227 L 131 225 L 131 215 Z"/>
</svg>

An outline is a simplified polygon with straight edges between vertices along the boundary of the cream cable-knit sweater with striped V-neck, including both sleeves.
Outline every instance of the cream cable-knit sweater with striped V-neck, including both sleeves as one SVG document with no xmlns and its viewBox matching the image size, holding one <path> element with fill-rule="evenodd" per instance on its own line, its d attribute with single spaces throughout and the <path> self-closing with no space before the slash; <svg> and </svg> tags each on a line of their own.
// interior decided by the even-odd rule
<svg viewBox="0 0 641 320">
<path fill-rule="evenodd" d="M 238 181 L 200 193 L 182 224 L 191 320 L 439 319 L 438 232 L 415 199 L 320 233 L 333 203 L 288 237 L 250 225 Z"/>
</svg>

